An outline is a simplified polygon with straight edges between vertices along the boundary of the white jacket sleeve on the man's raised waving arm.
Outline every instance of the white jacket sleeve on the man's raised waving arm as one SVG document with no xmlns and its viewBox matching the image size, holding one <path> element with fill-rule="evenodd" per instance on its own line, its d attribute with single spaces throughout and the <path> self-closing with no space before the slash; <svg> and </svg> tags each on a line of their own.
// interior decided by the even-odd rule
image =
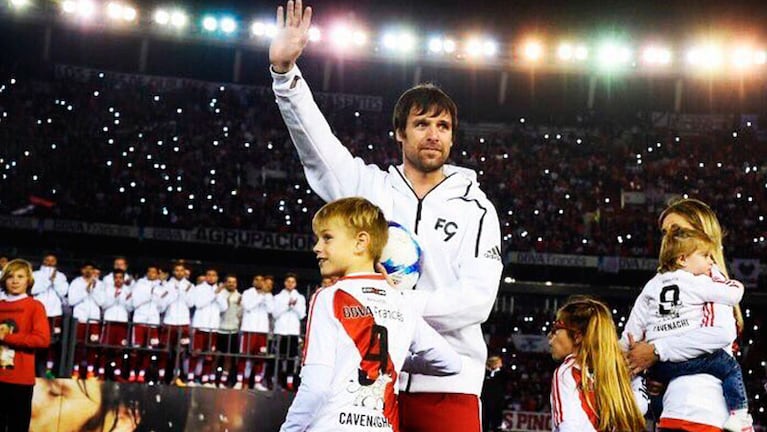
<svg viewBox="0 0 767 432">
<path fill-rule="evenodd" d="M 383 181 L 383 171 L 353 157 L 333 135 L 298 66 L 285 74 L 272 71 L 272 79 L 277 105 L 298 151 L 306 180 L 320 198 L 332 201 L 360 195 L 360 190 L 370 190 L 371 181 Z"/>
</svg>

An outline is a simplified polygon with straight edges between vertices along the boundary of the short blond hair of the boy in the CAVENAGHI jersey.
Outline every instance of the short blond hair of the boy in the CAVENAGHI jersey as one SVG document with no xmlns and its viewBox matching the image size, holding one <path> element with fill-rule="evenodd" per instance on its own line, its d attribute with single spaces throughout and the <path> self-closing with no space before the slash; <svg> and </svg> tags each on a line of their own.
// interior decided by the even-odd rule
<svg viewBox="0 0 767 432">
<path fill-rule="evenodd" d="M 330 220 L 339 221 L 352 236 L 363 231 L 368 233 L 368 254 L 375 263 L 381 260 L 381 253 L 389 240 L 389 224 L 378 206 L 360 197 L 331 201 L 314 215 L 312 230 L 318 232 Z"/>
</svg>

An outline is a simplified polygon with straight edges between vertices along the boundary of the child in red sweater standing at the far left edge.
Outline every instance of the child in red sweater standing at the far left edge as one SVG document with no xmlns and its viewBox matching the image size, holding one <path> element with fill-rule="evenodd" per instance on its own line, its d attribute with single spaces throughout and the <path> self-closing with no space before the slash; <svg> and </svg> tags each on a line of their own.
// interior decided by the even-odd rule
<svg viewBox="0 0 767 432">
<path fill-rule="evenodd" d="M 32 265 L 16 259 L 3 268 L 0 287 L 0 431 L 27 432 L 35 386 L 35 350 L 51 341 L 42 303 L 27 293 Z"/>
</svg>

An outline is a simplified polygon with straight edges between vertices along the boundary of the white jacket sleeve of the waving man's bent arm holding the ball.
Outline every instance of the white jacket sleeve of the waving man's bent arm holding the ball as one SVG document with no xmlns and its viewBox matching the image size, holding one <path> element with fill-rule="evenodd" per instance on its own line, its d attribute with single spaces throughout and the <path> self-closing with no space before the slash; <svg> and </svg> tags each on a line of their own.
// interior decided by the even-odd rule
<svg viewBox="0 0 767 432">
<path fill-rule="evenodd" d="M 435 291 L 410 291 L 416 304 L 423 305 L 426 322 L 439 333 L 485 322 L 498 294 L 503 271 L 498 214 L 487 200 L 479 205 L 484 210 L 475 220 L 477 234 L 464 236 L 460 248 L 458 279 Z"/>
</svg>

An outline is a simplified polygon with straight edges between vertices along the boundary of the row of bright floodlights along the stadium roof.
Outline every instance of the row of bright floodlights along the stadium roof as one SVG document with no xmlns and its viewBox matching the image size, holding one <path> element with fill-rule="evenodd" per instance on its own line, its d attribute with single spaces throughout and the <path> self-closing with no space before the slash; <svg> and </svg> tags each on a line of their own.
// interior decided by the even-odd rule
<svg viewBox="0 0 767 432">
<path fill-rule="evenodd" d="M 9 1 L 15 8 L 22 9 L 29 6 L 31 0 Z M 98 12 L 93 0 L 64 0 L 61 7 L 65 14 L 81 19 L 92 19 Z M 107 3 L 104 13 L 107 18 L 115 22 L 130 23 L 138 19 L 138 12 L 133 6 L 116 1 Z M 181 30 L 190 23 L 189 16 L 180 9 L 157 9 L 152 20 L 160 26 L 176 30 Z M 232 16 L 205 15 L 200 21 L 200 28 L 206 33 L 234 35 L 239 27 L 240 23 Z M 263 39 L 272 38 L 277 33 L 274 23 L 265 21 L 253 22 L 249 30 L 252 37 Z M 360 49 L 370 42 L 367 32 L 349 24 L 333 26 L 328 36 L 331 46 L 341 51 Z M 309 39 L 314 42 L 323 39 L 323 34 L 318 27 L 312 27 L 309 30 Z M 418 50 L 418 46 L 418 37 L 406 30 L 387 31 L 380 40 L 382 50 L 393 55 L 414 53 Z M 455 39 L 435 36 L 426 41 L 424 49 L 433 55 L 492 58 L 498 55 L 499 44 L 489 37 L 474 36 L 459 44 Z M 674 54 L 669 47 L 649 45 L 639 53 L 635 53 L 626 44 L 619 42 L 602 43 L 596 46 L 596 52 L 592 53 L 589 47 L 582 43 L 563 42 L 556 49 L 550 49 L 540 40 L 529 39 L 522 42 L 516 54 L 519 60 L 528 64 L 542 63 L 549 58 L 556 58 L 562 64 L 577 64 L 591 60 L 599 66 L 608 68 L 627 67 L 636 63 L 663 67 L 674 62 Z M 693 47 L 684 57 L 684 61 L 690 66 L 708 70 L 723 67 L 728 60 L 731 66 L 739 69 L 765 65 L 767 51 L 744 45 L 728 52 L 722 45 L 706 43 Z"/>
</svg>

